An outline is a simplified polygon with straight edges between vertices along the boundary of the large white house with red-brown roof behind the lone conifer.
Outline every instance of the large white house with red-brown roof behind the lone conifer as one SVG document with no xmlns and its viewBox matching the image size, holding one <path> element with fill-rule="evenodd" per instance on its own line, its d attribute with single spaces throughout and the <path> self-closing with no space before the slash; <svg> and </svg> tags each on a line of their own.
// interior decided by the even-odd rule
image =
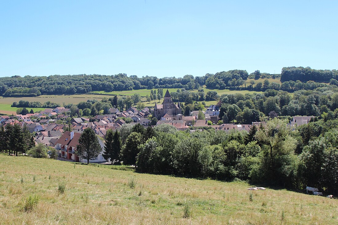
<svg viewBox="0 0 338 225">
<path fill-rule="evenodd" d="M 77 145 L 79 144 L 80 136 L 81 133 L 76 133 L 74 131 L 71 132 L 66 131 L 65 133 L 62 134 L 61 138 L 59 138 L 56 141 L 55 146 L 59 158 L 81 163 L 87 163 L 87 159 L 80 159 L 75 153 Z M 98 140 L 102 149 L 104 149 L 104 143 L 101 141 L 101 139 L 98 138 Z M 89 160 L 89 163 L 105 162 L 106 160 L 103 158 L 102 153 L 103 150 L 96 158 Z"/>
</svg>

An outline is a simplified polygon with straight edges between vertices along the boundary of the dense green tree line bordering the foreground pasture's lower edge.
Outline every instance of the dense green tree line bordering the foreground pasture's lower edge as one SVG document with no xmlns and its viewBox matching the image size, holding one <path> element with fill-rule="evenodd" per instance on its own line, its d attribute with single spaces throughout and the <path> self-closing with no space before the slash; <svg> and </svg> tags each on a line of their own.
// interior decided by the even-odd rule
<svg viewBox="0 0 338 225">
<path fill-rule="evenodd" d="M 338 120 L 311 120 L 295 129 L 270 119 L 251 130 L 177 131 L 161 124 L 125 124 L 108 131 L 104 158 L 136 171 L 338 192 Z"/>
</svg>

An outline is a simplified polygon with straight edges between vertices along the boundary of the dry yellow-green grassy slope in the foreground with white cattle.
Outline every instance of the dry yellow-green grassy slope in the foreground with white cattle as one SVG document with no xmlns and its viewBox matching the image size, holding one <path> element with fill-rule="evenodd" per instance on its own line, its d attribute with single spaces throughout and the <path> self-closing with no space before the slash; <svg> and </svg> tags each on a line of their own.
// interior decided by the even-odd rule
<svg viewBox="0 0 338 225">
<path fill-rule="evenodd" d="M 0 223 L 338 224 L 335 199 L 248 187 L 0 155 Z"/>
</svg>

